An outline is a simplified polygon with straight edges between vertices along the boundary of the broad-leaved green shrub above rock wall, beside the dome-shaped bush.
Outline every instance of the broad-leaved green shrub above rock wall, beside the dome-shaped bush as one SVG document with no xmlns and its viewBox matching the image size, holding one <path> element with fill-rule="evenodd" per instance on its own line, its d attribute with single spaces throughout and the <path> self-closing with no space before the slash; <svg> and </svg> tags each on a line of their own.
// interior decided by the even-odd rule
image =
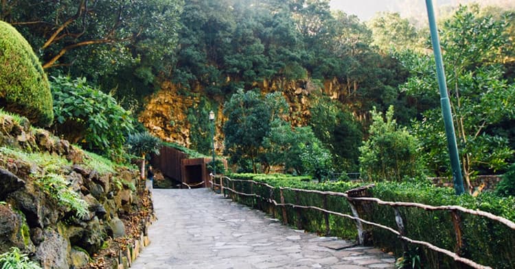
<svg viewBox="0 0 515 269">
<path fill-rule="evenodd" d="M 53 77 L 54 129 L 73 144 L 119 160 L 125 138 L 134 131 L 130 112 L 86 79 Z"/>
</svg>

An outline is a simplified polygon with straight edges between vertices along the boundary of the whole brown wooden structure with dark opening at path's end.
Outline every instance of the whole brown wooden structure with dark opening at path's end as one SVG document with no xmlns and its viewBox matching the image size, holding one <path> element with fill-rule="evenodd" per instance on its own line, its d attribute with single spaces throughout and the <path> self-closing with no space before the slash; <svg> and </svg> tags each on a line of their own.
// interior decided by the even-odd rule
<svg viewBox="0 0 515 269">
<path fill-rule="evenodd" d="M 163 146 L 159 155 L 152 154 L 150 164 L 161 170 L 165 177 L 181 182 L 181 186 L 210 188 L 207 164 L 211 157 L 188 159 L 186 153 L 170 146 Z M 227 161 L 222 159 L 227 167 Z"/>
</svg>

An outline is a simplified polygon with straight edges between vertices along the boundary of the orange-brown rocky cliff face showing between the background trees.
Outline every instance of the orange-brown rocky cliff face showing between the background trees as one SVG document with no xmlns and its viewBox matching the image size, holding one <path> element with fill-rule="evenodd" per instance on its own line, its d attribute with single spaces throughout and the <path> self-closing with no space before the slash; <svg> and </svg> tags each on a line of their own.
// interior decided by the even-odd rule
<svg viewBox="0 0 515 269">
<path fill-rule="evenodd" d="M 314 92 L 325 92 L 333 99 L 339 99 L 345 94 L 345 86 L 338 81 L 326 81 L 323 86 L 314 84 L 310 79 L 299 81 L 285 81 L 275 79 L 264 80 L 255 83 L 256 88 L 262 89 L 263 94 L 282 90 L 286 101 L 290 105 L 290 115 L 287 120 L 294 126 L 306 125 L 310 118 L 310 98 Z M 139 121 L 155 136 L 182 146 L 190 147 L 191 125 L 187 121 L 187 111 L 190 107 L 198 107 L 202 89 L 194 89 L 190 95 L 180 94 L 178 87 L 170 81 L 161 84 L 161 90 L 150 97 L 144 112 L 139 116 Z M 223 102 L 218 101 L 218 114 L 216 115 L 216 141 L 222 145 L 223 133 L 221 132 L 225 116 L 222 114 Z M 222 146 L 216 146 L 216 151 L 223 151 Z"/>
</svg>

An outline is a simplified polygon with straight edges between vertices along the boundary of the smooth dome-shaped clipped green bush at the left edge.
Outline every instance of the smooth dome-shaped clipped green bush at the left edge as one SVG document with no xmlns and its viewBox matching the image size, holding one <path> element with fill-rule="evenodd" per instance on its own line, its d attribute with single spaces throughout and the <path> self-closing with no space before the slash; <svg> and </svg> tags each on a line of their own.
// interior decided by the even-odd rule
<svg viewBox="0 0 515 269">
<path fill-rule="evenodd" d="M 0 21 L 0 107 L 49 126 L 54 119 L 47 76 L 30 44 L 8 23 Z"/>
</svg>

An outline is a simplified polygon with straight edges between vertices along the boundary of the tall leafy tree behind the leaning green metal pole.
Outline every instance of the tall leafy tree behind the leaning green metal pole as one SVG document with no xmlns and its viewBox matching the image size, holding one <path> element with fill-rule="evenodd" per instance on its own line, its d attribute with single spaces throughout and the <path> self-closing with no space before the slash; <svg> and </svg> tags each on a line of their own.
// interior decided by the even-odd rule
<svg viewBox="0 0 515 269">
<path fill-rule="evenodd" d="M 461 165 L 468 188 L 477 170 L 505 168 L 513 154 L 506 138 L 488 133 L 488 127 L 515 117 L 515 85 L 503 79 L 499 60 L 509 38 L 503 29 L 507 21 L 479 16 L 477 7 L 461 7 L 442 27 L 442 50 L 446 66 L 453 120 L 461 155 Z M 417 97 L 437 97 L 434 62 L 431 55 L 404 57 L 411 77 L 403 90 Z M 439 142 L 444 132 L 439 110 L 424 112 L 422 122 L 414 125 L 422 139 L 429 167 L 439 172 L 446 152 Z"/>
</svg>

